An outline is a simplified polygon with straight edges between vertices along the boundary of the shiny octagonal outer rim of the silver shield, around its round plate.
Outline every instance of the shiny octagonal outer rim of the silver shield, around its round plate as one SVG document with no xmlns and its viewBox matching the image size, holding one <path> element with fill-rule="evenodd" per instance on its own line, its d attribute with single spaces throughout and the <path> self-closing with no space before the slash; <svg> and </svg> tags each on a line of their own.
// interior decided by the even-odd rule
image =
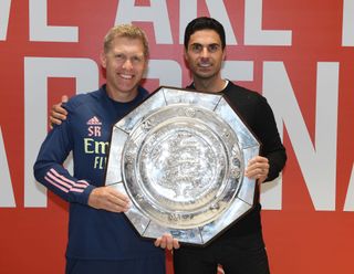
<svg viewBox="0 0 354 274">
<path fill-rule="evenodd" d="M 156 108 L 174 104 L 192 104 L 218 114 L 236 133 L 239 139 L 239 147 L 243 154 L 242 165 L 244 167 L 252 157 L 259 154 L 260 145 L 258 140 L 223 98 L 223 95 L 202 93 L 202 96 L 200 96 L 200 92 L 197 91 L 167 86 L 157 88 L 139 106 L 116 122 L 112 131 L 112 141 L 122 144 L 122 139 L 125 141 L 128 138 L 129 133 L 137 123 L 142 122 Z M 112 145 L 112 141 L 105 185 L 127 194 L 122 180 L 121 157 L 124 144 L 122 146 L 116 144 Z M 134 204 L 125 212 L 125 215 L 143 238 L 156 239 L 164 233 L 170 233 L 181 243 L 206 245 L 252 209 L 254 190 L 256 180 L 243 177 L 241 186 L 230 207 L 215 221 L 194 229 L 163 226 L 144 215 Z"/>
</svg>

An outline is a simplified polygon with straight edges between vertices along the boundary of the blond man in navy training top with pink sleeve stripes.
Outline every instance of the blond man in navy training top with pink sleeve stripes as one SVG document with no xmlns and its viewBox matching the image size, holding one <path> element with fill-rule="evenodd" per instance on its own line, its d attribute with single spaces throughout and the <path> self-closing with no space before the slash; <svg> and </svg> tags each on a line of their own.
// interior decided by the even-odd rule
<svg viewBox="0 0 354 274">
<path fill-rule="evenodd" d="M 178 247 L 169 235 L 144 241 L 122 212 L 128 198 L 104 186 L 104 165 L 112 125 L 148 92 L 139 86 L 148 62 L 148 43 L 137 27 L 112 28 L 101 64 L 106 84 L 72 97 L 67 118 L 49 133 L 34 165 L 39 182 L 70 203 L 66 274 L 164 274 L 165 252 Z M 98 149 L 94 149 L 94 148 Z M 62 166 L 73 152 L 74 172 Z"/>
</svg>

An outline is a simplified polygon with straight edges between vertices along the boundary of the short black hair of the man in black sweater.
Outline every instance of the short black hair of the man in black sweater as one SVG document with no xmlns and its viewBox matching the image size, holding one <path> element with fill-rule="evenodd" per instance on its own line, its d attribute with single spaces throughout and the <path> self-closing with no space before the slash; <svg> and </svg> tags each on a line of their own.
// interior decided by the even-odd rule
<svg viewBox="0 0 354 274">
<path fill-rule="evenodd" d="M 190 40 L 190 36 L 196 31 L 201 31 L 201 30 L 216 31 L 219 34 L 219 38 L 221 41 L 221 48 L 222 50 L 225 49 L 226 41 L 225 41 L 225 30 L 222 24 L 219 21 L 215 20 L 214 18 L 200 17 L 190 21 L 186 28 L 186 31 L 185 31 L 185 49 L 186 50 L 188 50 L 188 42 Z"/>
</svg>

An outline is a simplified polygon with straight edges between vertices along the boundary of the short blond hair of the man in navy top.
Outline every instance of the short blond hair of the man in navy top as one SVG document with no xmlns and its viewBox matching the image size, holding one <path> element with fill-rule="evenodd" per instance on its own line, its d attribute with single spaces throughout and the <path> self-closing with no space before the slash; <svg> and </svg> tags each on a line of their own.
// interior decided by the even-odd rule
<svg viewBox="0 0 354 274">
<path fill-rule="evenodd" d="M 144 56 L 148 57 L 148 41 L 145 32 L 136 25 L 133 24 L 119 24 L 113 27 L 104 38 L 104 52 L 107 53 L 111 50 L 111 45 L 116 38 L 129 38 L 139 39 L 144 45 Z"/>
</svg>

